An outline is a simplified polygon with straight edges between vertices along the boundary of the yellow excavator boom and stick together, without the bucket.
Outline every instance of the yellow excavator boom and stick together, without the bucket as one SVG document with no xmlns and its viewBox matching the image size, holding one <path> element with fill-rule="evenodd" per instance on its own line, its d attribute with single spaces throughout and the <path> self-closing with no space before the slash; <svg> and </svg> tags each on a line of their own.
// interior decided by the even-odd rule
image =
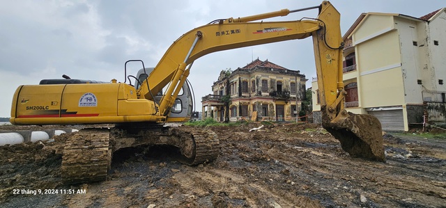
<svg viewBox="0 0 446 208">
<path fill-rule="evenodd" d="M 262 45 L 284 40 L 304 39 L 313 36 L 316 69 L 323 99 L 321 104 L 329 104 L 334 108 L 344 101 L 342 82 L 342 38 L 340 15 L 329 1 L 324 1 L 319 8 L 316 19 L 296 20 L 288 22 L 252 22 L 269 17 L 285 16 L 291 11 L 284 9 L 273 13 L 265 13 L 237 19 L 220 19 L 215 24 L 206 24 L 182 35 L 167 49 L 153 72 L 139 88 L 140 98 L 153 99 L 152 95 L 169 85 L 165 97 L 160 100 L 162 115 L 169 113 L 180 86 L 190 72 L 187 65 L 201 56 L 215 51 L 236 49 L 252 45 Z M 148 83 L 150 85 L 148 86 Z M 325 90 L 327 89 L 327 90 Z M 178 91 L 178 92 L 176 92 Z M 155 94 L 153 92 L 156 92 Z M 176 92 L 176 93 L 175 93 Z M 330 117 L 337 114 L 330 111 Z"/>
</svg>

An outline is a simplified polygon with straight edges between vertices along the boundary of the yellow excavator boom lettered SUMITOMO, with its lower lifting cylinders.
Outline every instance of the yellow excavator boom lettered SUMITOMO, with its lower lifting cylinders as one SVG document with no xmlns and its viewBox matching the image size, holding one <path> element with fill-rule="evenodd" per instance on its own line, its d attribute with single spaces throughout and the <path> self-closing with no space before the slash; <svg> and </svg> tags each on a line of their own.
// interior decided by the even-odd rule
<svg viewBox="0 0 446 208">
<path fill-rule="evenodd" d="M 289 13 L 289 10 L 281 10 L 275 14 L 281 13 Z M 256 15 L 255 19 L 264 19 L 270 17 L 270 14 L 272 13 Z M 170 83 L 167 93 L 164 93 L 166 96 L 160 101 L 160 111 L 166 115 L 169 112 L 169 106 L 176 98 L 171 96 L 172 93 L 178 90 L 177 86 L 182 86 L 185 77 L 189 74 L 187 65 L 192 65 L 197 58 L 215 51 L 307 38 L 312 35 L 313 31 L 321 29 L 323 24 L 314 20 L 235 22 L 232 19 L 201 26 L 178 38 L 167 49 L 148 79 L 142 83 L 139 88 L 141 98 L 152 99 L 153 92 L 159 92 Z M 336 25 L 339 27 L 339 22 Z M 340 31 L 337 36 L 340 38 Z M 147 83 L 150 83 L 150 86 L 147 87 Z M 176 94 L 174 93 L 174 95 Z"/>
</svg>

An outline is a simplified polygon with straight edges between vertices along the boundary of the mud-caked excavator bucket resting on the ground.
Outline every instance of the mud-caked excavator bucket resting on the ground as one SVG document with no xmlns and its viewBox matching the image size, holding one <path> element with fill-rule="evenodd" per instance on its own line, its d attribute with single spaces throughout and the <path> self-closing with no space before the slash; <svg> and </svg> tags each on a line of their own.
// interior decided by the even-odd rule
<svg viewBox="0 0 446 208">
<path fill-rule="evenodd" d="M 378 118 L 368 114 L 344 113 L 341 118 L 323 122 L 323 127 L 351 157 L 385 161 L 383 135 Z"/>
</svg>

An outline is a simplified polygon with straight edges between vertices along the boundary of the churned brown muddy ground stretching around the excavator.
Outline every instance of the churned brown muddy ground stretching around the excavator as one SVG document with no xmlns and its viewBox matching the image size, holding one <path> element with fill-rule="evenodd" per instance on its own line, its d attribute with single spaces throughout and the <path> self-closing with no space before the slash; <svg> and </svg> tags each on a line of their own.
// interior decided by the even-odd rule
<svg viewBox="0 0 446 208">
<path fill-rule="evenodd" d="M 446 207 L 445 138 L 386 134 L 381 163 L 349 157 L 317 125 L 249 132 L 258 125 L 210 127 L 221 143 L 211 163 L 185 166 L 169 147 L 125 149 L 107 181 L 77 186 L 61 182 L 68 135 L 3 146 L 0 207 Z"/>
</svg>

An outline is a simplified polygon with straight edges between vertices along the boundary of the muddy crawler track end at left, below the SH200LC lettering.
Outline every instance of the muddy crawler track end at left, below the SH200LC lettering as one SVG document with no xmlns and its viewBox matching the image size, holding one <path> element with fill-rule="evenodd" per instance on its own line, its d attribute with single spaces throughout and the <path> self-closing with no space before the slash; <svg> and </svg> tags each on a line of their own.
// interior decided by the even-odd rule
<svg viewBox="0 0 446 208">
<path fill-rule="evenodd" d="M 66 184 L 100 182 L 112 162 L 108 129 L 82 129 L 68 138 L 61 173 Z"/>
</svg>

